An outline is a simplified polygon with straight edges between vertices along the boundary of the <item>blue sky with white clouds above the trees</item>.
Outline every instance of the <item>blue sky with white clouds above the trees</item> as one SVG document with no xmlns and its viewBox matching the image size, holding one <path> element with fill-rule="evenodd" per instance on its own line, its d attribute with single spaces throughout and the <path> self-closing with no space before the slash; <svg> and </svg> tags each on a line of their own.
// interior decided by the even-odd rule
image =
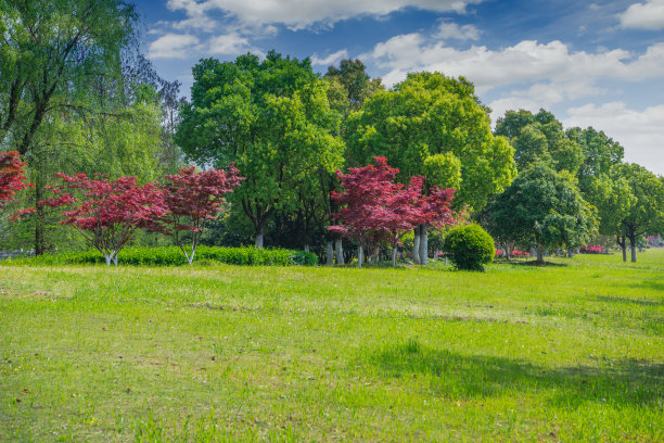
<svg viewBox="0 0 664 443">
<path fill-rule="evenodd" d="M 391 87 L 438 71 L 475 85 L 491 121 L 551 111 L 664 175 L 664 0 L 136 0 L 141 46 L 182 81 L 203 58 L 269 50 L 323 74 L 360 59 Z"/>
</svg>

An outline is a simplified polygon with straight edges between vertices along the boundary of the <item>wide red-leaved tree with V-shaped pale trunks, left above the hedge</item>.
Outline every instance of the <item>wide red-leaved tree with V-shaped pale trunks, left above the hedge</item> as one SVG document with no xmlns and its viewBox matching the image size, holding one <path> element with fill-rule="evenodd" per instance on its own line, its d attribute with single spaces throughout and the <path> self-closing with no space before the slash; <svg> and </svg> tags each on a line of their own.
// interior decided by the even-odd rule
<svg viewBox="0 0 664 443">
<path fill-rule="evenodd" d="M 153 183 L 137 185 L 136 177 L 91 179 L 86 174 L 62 178 L 60 187 L 47 187 L 53 197 L 39 202 L 51 207 L 66 206 L 63 225 L 73 226 L 106 260 L 117 266 L 117 253 L 137 230 L 153 226 L 167 212 L 164 192 Z"/>
</svg>

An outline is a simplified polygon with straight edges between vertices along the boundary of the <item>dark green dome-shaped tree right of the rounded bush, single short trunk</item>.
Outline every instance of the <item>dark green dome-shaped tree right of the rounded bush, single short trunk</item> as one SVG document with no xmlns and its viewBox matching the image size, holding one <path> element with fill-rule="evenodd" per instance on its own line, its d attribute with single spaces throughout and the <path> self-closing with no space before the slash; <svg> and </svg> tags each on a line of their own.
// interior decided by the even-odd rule
<svg viewBox="0 0 664 443">
<path fill-rule="evenodd" d="M 580 195 L 569 175 L 536 164 L 516 177 L 486 210 L 488 225 L 505 239 L 534 244 L 537 262 L 552 248 L 584 244 L 596 230 L 596 210 Z"/>
</svg>

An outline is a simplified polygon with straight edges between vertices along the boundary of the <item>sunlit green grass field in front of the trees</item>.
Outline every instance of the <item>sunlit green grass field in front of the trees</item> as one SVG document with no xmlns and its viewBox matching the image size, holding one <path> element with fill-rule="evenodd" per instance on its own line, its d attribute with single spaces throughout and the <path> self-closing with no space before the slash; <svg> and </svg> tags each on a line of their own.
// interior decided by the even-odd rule
<svg viewBox="0 0 664 443">
<path fill-rule="evenodd" d="M 0 441 L 664 441 L 664 251 L 0 267 Z"/>
</svg>

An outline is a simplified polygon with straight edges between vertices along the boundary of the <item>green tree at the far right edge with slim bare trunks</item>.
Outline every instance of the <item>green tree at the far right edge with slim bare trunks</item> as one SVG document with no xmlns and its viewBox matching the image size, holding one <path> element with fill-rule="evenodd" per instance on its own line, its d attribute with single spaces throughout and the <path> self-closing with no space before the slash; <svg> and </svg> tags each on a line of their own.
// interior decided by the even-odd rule
<svg viewBox="0 0 664 443">
<path fill-rule="evenodd" d="M 637 238 L 646 233 L 664 233 L 664 183 L 661 177 L 635 163 L 616 165 L 612 175 L 629 185 L 633 204 L 625 212 L 618 229 L 624 229 L 624 236 L 629 239 L 631 262 L 636 262 Z M 624 251 L 624 239 L 622 246 Z"/>
</svg>

